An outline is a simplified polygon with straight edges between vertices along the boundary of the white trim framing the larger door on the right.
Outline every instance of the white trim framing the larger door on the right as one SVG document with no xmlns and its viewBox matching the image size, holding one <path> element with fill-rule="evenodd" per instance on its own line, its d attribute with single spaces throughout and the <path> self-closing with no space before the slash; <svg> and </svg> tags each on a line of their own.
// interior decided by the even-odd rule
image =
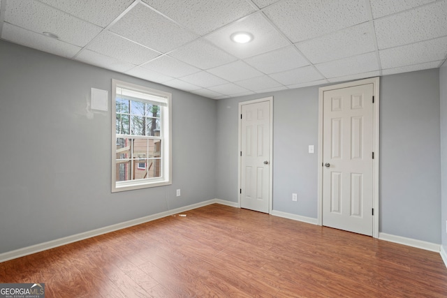
<svg viewBox="0 0 447 298">
<path fill-rule="evenodd" d="M 372 163 L 372 206 L 374 216 L 372 217 L 372 237 L 379 238 L 379 77 L 372 77 L 356 82 L 347 82 L 325 86 L 318 89 L 318 225 L 323 225 L 323 93 L 333 89 L 354 87 L 362 84 L 373 84 L 374 107 L 373 107 L 373 148 L 374 161 Z"/>
</svg>

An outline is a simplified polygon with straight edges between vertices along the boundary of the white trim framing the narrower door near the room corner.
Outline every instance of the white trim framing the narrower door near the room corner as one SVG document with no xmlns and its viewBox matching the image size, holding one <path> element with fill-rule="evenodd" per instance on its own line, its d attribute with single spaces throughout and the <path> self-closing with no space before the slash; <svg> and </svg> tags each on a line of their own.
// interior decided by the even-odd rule
<svg viewBox="0 0 447 298">
<path fill-rule="evenodd" d="M 241 121 L 241 115 L 242 115 L 242 105 L 250 105 L 251 103 L 262 103 L 263 101 L 269 101 L 270 102 L 270 141 L 269 141 L 269 163 L 270 166 L 268 167 L 268 175 L 269 175 L 269 192 L 268 192 L 268 200 L 269 200 L 269 214 L 272 214 L 273 210 L 273 96 L 265 97 L 265 98 L 259 98 L 254 100 L 247 100 L 247 101 L 241 101 L 239 103 L 239 112 L 237 114 L 238 117 L 238 126 L 237 126 L 237 205 L 239 208 L 241 207 L 241 173 L 242 173 L 242 163 L 241 163 L 241 156 L 240 152 L 242 151 L 242 121 Z"/>
</svg>

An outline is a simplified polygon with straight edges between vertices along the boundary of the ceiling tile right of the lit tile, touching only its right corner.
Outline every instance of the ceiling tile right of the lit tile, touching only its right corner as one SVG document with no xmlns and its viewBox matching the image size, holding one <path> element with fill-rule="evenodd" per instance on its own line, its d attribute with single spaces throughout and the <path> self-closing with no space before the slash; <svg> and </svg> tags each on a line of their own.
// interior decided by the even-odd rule
<svg viewBox="0 0 447 298">
<path fill-rule="evenodd" d="M 369 22 L 295 45 L 314 64 L 376 50 L 374 31 Z"/>
</svg>

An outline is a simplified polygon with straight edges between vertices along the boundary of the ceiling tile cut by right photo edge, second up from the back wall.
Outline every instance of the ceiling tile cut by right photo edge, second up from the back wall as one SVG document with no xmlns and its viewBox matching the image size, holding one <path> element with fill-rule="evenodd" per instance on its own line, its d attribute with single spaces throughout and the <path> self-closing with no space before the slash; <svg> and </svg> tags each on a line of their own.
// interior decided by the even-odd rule
<svg viewBox="0 0 447 298">
<path fill-rule="evenodd" d="M 443 60 L 446 55 L 447 37 L 379 51 L 382 68 L 396 68 Z"/>
</svg>

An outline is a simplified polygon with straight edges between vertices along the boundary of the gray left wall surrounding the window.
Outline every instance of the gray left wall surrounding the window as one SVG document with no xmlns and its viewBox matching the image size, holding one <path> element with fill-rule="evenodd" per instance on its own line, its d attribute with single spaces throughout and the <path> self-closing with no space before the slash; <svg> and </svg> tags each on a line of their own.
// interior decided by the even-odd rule
<svg viewBox="0 0 447 298">
<path fill-rule="evenodd" d="M 0 77 L 0 253 L 215 198 L 214 100 L 4 41 Z M 173 93 L 172 186 L 110 192 L 112 78 Z"/>
</svg>

